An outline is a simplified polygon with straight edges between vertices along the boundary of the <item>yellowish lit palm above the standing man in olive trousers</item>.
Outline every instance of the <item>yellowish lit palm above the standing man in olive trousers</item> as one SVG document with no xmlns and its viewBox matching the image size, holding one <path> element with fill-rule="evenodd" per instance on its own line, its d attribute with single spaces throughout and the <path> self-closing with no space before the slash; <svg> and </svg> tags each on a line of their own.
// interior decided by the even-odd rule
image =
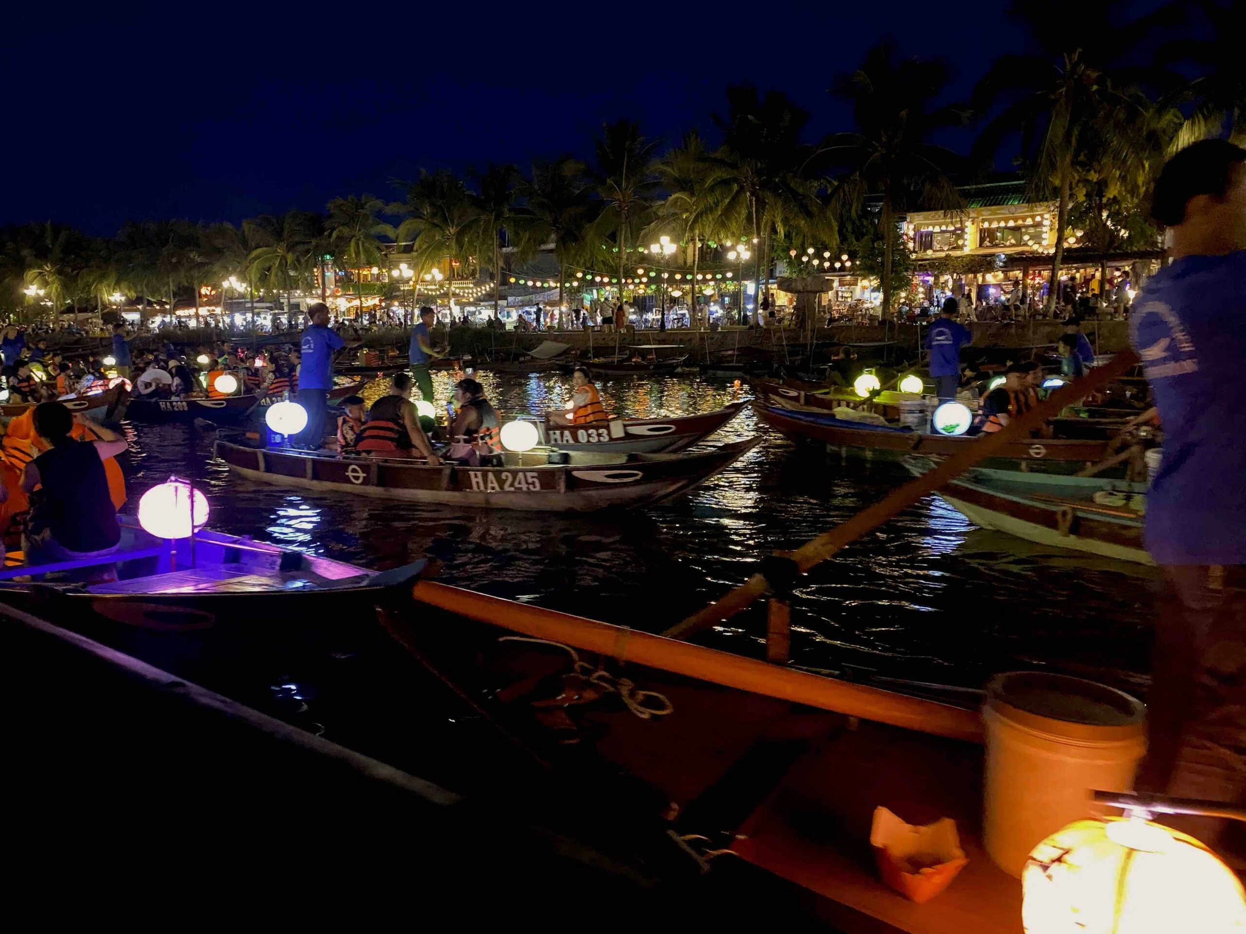
<svg viewBox="0 0 1246 934">
<path fill-rule="evenodd" d="M 449 305 L 455 310 L 455 270 L 466 263 L 477 243 L 473 229 L 478 220 L 476 199 L 454 173 L 425 172 L 407 184 L 406 200 L 391 204 L 392 214 L 406 214 L 395 238 L 411 243 L 416 265 L 434 265 L 449 260 Z"/>
</svg>

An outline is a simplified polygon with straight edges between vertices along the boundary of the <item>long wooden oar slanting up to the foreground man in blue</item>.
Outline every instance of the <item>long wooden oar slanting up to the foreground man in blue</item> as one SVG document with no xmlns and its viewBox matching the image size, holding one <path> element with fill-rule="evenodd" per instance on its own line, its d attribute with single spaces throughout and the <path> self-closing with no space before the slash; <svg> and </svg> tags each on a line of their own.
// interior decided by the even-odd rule
<svg viewBox="0 0 1246 934">
<path fill-rule="evenodd" d="M 888 519 L 895 518 L 922 497 L 930 496 L 936 489 L 947 486 L 951 479 L 998 453 L 1011 442 L 1027 437 L 1034 428 L 1042 427 L 1048 418 L 1058 415 L 1064 406 L 1072 405 L 1079 399 L 1085 399 L 1085 396 L 1111 382 L 1136 362 L 1138 355 L 1131 350 L 1116 354 L 1105 366 L 1091 369 L 1082 379 L 1055 390 L 1055 392 L 1043 402 L 1039 402 L 1034 408 L 1012 418 L 1004 426 L 1003 431 L 983 435 L 972 445 L 966 445 L 963 451 L 947 458 L 934 469 L 927 471 L 921 477 L 900 487 L 900 489 L 895 491 L 886 499 L 866 507 L 847 522 L 841 523 L 811 542 L 806 542 L 789 555 L 795 562 L 796 570 L 804 574 L 814 565 L 821 564 L 845 545 L 872 532 Z M 663 635 L 672 639 L 684 639 L 699 629 L 711 626 L 734 616 L 751 605 L 759 597 L 763 597 L 768 589 L 769 583 L 766 578 L 763 574 L 754 574 L 728 593 L 721 600 L 711 603 L 699 613 L 693 614 L 682 623 L 677 623 L 663 633 Z"/>
</svg>

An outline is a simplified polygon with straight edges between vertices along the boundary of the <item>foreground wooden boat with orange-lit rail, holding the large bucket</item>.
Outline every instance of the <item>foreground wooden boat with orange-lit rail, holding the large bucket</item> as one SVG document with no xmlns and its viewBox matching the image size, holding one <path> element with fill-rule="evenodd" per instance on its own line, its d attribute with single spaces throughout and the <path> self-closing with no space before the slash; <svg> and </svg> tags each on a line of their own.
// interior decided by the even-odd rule
<svg viewBox="0 0 1246 934">
<path fill-rule="evenodd" d="M 836 930 L 1020 930 L 1020 885 L 979 842 L 976 710 L 430 580 L 412 597 L 385 614 L 391 634 L 553 781 L 592 788 L 582 809 L 657 822 L 703 872 L 765 884 Z M 933 902 L 878 879 L 880 806 L 957 822 L 968 864 Z"/>
</svg>

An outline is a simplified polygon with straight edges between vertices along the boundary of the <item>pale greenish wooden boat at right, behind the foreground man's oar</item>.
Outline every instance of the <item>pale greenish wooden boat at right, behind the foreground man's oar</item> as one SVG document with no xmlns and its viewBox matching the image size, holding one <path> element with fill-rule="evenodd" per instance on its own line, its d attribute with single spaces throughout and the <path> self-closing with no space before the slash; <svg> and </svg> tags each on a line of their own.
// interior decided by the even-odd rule
<svg viewBox="0 0 1246 934">
<path fill-rule="evenodd" d="M 930 468 L 906 460 L 913 473 Z M 1145 483 L 976 468 L 938 496 L 983 528 L 1057 548 L 1154 564 L 1143 547 Z"/>
</svg>

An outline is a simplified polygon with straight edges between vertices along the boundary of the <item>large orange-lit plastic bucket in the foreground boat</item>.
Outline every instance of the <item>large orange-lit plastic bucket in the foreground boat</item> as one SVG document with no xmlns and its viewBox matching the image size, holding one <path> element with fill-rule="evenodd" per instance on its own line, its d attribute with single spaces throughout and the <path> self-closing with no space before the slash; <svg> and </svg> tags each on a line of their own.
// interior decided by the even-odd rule
<svg viewBox="0 0 1246 934">
<path fill-rule="evenodd" d="M 1091 791 L 1129 791 L 1146 751 L 1146 709 L 1128 694 L 1065 675 L 1018 671 L 987 685 L 982 838 L 1006 873 L 1091 816 Z"/>
</svg>

